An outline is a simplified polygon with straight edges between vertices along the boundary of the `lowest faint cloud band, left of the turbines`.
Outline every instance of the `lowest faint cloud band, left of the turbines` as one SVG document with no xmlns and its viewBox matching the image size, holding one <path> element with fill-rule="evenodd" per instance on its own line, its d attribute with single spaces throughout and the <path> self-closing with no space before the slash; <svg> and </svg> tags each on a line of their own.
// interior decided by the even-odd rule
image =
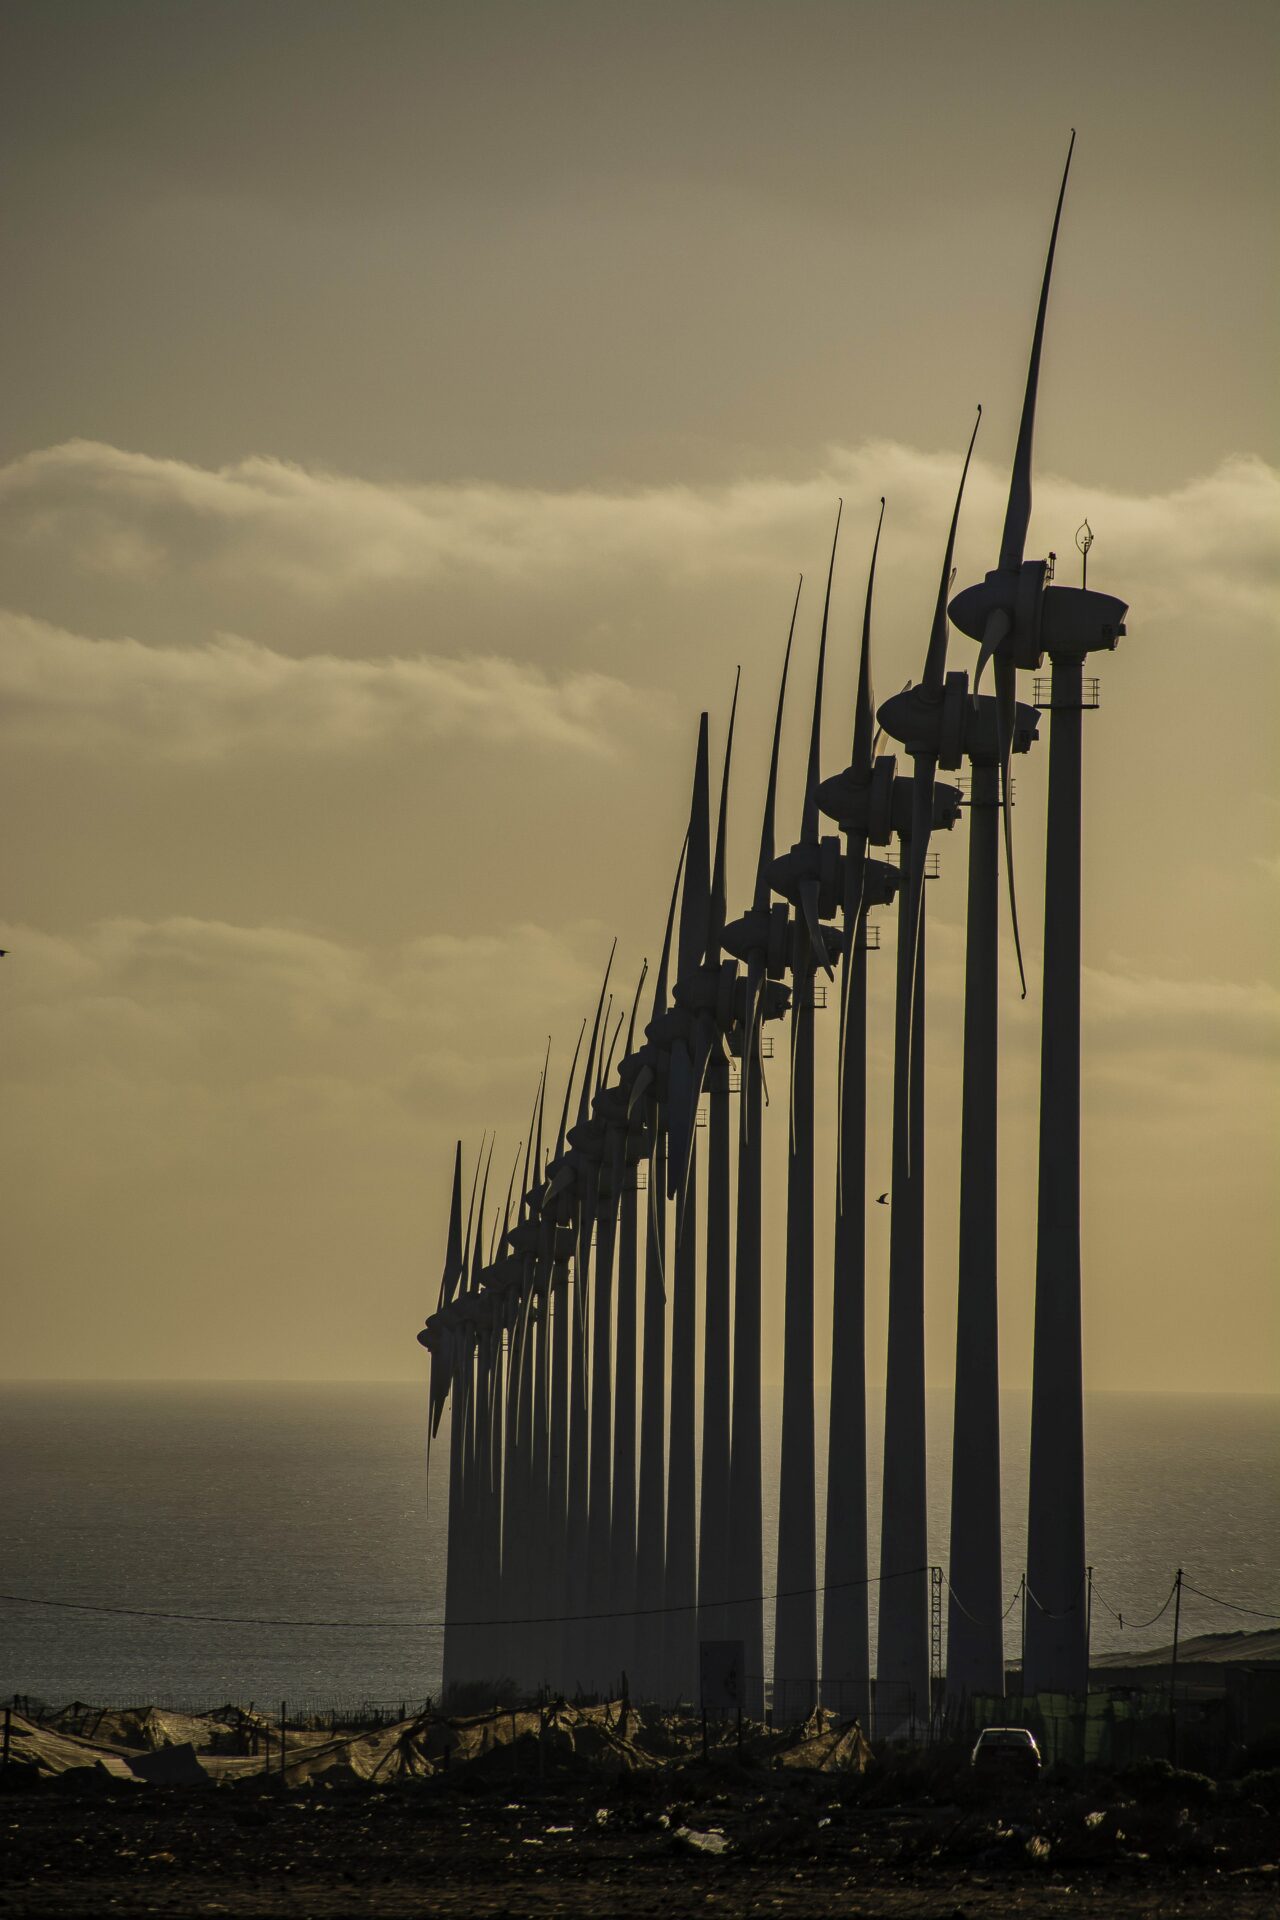
<svg viewBox="0 0 1280 1920">
<path fill-rule="evenodd" d="M 255 1085 L 409 1089 L 484 1106 L 512 1062 L 599 991 L 591 922 L 359 947 L 309 927 L 194 916 L 102 920 L 77 935 L 6 927 L 17 1085 L 182 1079 L 236 1102 Z M 495 1116 L 486 1114 L 489 1125 Z"/>
</svg>

